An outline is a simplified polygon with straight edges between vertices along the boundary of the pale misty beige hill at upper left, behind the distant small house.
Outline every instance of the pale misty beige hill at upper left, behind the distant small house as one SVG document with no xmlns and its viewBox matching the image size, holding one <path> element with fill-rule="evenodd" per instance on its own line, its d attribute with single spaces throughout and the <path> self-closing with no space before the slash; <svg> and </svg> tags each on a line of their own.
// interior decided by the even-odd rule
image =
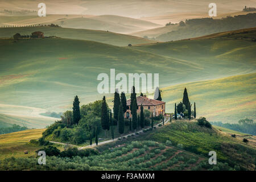
<svg viewBox="0 0 256 182">
<path fill-rule="evenodd" d="M 39 16 L 0 16 L 0 26 L 28 26 L 34 24 L 59 24 L 65 28 L 82 28 L 129 34 L 131 32 L 159 27 L 159 24 L 145 20 L 116 15 L 47 15 Z"/>
</svg>

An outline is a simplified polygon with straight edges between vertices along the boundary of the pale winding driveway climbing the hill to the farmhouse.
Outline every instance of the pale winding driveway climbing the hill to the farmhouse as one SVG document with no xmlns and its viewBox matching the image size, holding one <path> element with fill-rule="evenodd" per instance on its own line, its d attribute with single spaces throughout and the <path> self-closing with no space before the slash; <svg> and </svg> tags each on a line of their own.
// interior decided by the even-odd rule
<svg viewBox="0 0 256 182">
<path fill-rule="evenodd" d="M 165 117 L 164 118 L 164 123 L 167 123 L 168 121 L 170 120 L 170 117 Z M 155 127 L 160 127 L 158 126 L 159 123 L 157 125 L 155 125 Z M 136 131 L 136 133 L 142 133 L 143 130 L 139 130 L 139 131 Z M 122 137 L 127 137 L 128 135 L 131 135 L 133 133 L 130 133 L 130 134 L 127 134 L 127 135 L 124 135 Z M 118 137 L 120 138 L 120 137 Z M 98 146 L 101 145 L 101 144 L 106 144 L 106 143 L 110 143 L 110 142 L 114 142 L 114 141 L 117 141 L 118 138 L 114 138 L 114 139 L 110 139 L 110 140 L 106 140 L 106 141 L 103 141 L 103 142 L 98 142 Z M 91 147 L 95 147 L 96 146 L 96 143 L 93 143 L 92 146 L 88 145 L 88 146 L 84 146 L 84 147 L 79 147 L 79 146 L 76 146 L 75 144 L 69 144 L 69 143 L 61 143 L 61 142 L 53 142 L 53 141 L 49 141 L 50 143 L 55 143 L 55 144 L 63 144 L 63 145 L 68 145 L 68 146 L 73 146 L 73 147 L 77 147 L 78 150 L 82 150 L 84 148 L 91 148 Z"/>
</svg>

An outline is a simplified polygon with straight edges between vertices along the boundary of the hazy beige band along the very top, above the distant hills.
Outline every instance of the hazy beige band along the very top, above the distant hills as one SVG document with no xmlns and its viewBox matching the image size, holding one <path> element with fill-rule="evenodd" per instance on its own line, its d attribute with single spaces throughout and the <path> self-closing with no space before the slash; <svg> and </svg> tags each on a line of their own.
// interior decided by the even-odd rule
<svg viewBox="0 0 256 182">
<path fill-rule="evenodd" d="M 38 10 L 46 3 L 47 14 L 113 14 L 141 18 L 177 13 L 208 13 L 210 2 L 217 4 L 218 13 L 241 11 L 247 5 L 256 7 L 256 0 L 0 0 L 3 10 Z"/>
</svg>

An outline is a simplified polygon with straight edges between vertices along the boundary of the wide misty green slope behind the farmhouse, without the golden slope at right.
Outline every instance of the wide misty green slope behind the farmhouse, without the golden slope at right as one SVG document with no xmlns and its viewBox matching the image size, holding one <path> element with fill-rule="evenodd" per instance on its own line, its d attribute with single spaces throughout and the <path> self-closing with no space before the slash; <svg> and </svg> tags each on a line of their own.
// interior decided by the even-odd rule
<svg viewBox="0 0 256 182">
<path fill-rule="evenodd" d="M 247 34 L 254 36 L 255 32 Z M 54 110 L 65 109 L 76 94 L 82 103 L 101 98 L 95 95 L 97 75 L 109 73 L 110 68 L 116 73 L 160 73 L 161 87 L 255 71 L 255 43 L 226 37 L 135 47 L 59 38 L 18 43 L 1 40 L 0 44 L 1 56 L 5 57 L 0 62 L 0 101 Z M 247 88 L 253 83 L 251 80 Z"/>
</svg>

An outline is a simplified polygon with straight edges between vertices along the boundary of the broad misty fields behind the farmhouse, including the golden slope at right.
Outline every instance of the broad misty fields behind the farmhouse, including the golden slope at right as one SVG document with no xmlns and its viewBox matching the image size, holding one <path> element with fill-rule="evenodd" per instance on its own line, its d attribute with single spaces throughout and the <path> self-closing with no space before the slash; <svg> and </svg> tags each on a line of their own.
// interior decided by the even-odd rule
<svg viewBox="0 0 256 182">
<path fill-rule="evenodd" d="M 255 31 L 244 34 L 252 37 Z M 72 107 L 75 95 L 81 104 L 101 99 L 97 75 L 109 75 L 110 68 L 115 68 L 116 75 L 159 73 L 160 88 L 172 85 L 163 89 L 167 112 L 173 111 L 174 102 L 181 101 L 187 87 L 191 101 L 197 103 L 197 113 L 210 121 L 254 118 L 255 75 L 244 74 L 255 72 L 256 46 L 251 39 L 234 36 L 237 34 L 133 47 L 61 38 L 1 39 L 0 102 L 64 111 Z M 233 75 L 244 76 L 215 80 Z M 212 81 L 201 82 L 205 80 Z M 1 113 L 8 111 L 7 107 L 0 109 Z"/>
</svg>

